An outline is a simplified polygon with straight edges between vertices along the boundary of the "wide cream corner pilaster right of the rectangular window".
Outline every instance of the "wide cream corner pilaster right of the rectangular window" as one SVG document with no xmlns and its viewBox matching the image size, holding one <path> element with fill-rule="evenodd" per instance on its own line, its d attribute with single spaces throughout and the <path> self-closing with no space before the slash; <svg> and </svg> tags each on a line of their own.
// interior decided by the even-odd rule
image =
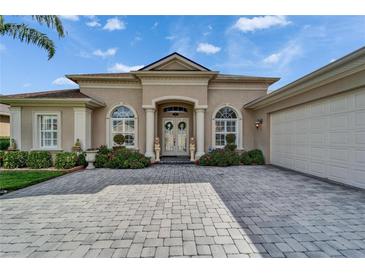
<svg viewBox="0 0 365 274">
<path fill-rule="evenodd" d="M 74 108 L 74 142 L 79 139 L 82 150 L 91 147 L 91 112 L 88 108 Z"/>
</svg>

